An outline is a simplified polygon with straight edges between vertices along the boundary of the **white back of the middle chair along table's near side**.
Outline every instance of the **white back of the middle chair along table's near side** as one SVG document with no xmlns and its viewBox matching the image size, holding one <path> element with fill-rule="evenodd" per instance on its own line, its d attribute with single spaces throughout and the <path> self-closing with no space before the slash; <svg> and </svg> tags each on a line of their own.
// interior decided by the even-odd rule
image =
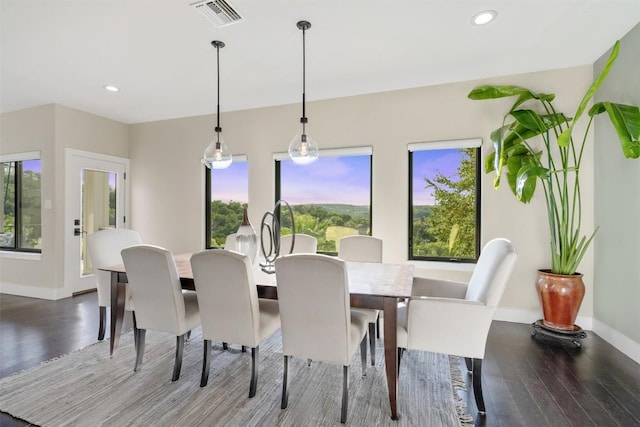
<svg viewBox="0 0 640 427">
<path fill-rule="evenodd" d="M 258 292 L 251 259 L 224 249 L 191 257 L 202 337 L 255 347 L 260 344 Z"/>
</svg>

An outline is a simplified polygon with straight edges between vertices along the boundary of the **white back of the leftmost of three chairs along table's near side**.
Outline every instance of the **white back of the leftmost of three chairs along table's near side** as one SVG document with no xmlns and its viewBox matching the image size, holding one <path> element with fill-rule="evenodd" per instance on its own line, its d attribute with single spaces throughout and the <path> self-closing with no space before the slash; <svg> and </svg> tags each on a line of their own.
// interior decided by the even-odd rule
<svg viewBox="0 0 640 427">
<path fill-rule="evenodd" d="M 138 329 L 173 335 L 189 331 L 191 327 L 185 323 L 184 297 L 173 254 L 159 246 L 137 245 L 123 249 L 122 260 L 136 307 Z"/>
</svg>

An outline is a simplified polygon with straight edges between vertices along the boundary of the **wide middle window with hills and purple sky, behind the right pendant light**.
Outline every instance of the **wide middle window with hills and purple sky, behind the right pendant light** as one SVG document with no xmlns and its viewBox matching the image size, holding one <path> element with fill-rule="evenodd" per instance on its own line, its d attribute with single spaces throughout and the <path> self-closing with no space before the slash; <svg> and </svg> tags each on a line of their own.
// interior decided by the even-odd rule
<svg viewBox="0 0 640 427">
<path fill-rule="evenodd" d="M 340 238 L 371 234 L 371 147 L 320 150 L 309 165 L 276 158 L 276 201 L 291 206 L 296 233 L 318 239 L 318 252 L 337 254 Z M 282 234 L 291 233 L 281 216 Z"/>
</svg>

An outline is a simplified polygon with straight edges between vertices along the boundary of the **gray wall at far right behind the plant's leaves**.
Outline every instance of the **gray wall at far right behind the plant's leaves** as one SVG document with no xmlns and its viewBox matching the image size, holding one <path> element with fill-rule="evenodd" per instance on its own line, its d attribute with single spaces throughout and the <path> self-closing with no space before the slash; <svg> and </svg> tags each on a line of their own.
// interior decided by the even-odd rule
<svg viewBox="0 0 640 427">
<path fill-rule="evenodd" d="M 602 70 L 608 55 L 596 62 L 594 73 Z M 621 40 L 618 60 L 596 101 L 640 104 L 639 75 L 637 25 Z M 600 230 L 594 245 L 594 316 L 602 323 L 603 335 L 612 328 L 640 346 L 640 159 L 622 155 L 604 115 L 596 118 L 595 141 L 595 222 Z M 594 330 L 598 331 L 595 325 Z"/>
</svg>

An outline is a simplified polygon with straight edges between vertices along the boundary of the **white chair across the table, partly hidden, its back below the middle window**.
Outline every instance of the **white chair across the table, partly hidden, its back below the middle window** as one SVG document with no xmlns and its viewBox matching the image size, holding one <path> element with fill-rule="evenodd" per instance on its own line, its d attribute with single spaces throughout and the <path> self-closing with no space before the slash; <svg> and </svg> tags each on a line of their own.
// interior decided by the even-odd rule
<svg viewBox="0 0 640 427">
<path fill-rule="evenodd" d="M 338 258 L 355 262 L 382 262 L 382 239 L 367 235 L 345 236 L 340 239 Z M 380 338 L 380 311 L 373 308 L 357 308 L 367 316 L 369 323 L 369 348 L 371 366 L 376 362 L 375 337 Z"/>
</svg>

